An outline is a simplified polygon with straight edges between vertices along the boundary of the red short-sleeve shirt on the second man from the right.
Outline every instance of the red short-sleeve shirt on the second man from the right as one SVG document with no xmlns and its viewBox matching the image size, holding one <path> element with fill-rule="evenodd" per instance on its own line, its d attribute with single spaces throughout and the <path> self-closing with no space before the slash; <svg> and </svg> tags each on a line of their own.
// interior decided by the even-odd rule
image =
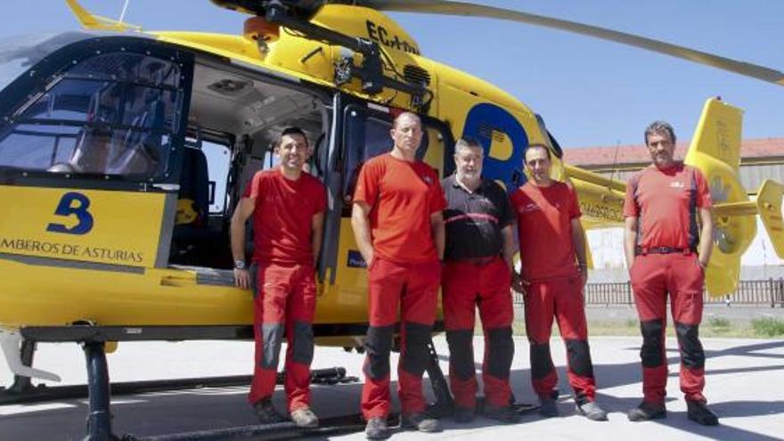
<svg viewBox="0 0 784 441">
<path fill-rule="evenodd" d="M 529 181 L 510 199 L 518 216 L 523 279 L 540 281 L 575 276 L 572 219 L 582 216 L 575 189 L 560 182 L 537 187 Z"/>
</svg>

